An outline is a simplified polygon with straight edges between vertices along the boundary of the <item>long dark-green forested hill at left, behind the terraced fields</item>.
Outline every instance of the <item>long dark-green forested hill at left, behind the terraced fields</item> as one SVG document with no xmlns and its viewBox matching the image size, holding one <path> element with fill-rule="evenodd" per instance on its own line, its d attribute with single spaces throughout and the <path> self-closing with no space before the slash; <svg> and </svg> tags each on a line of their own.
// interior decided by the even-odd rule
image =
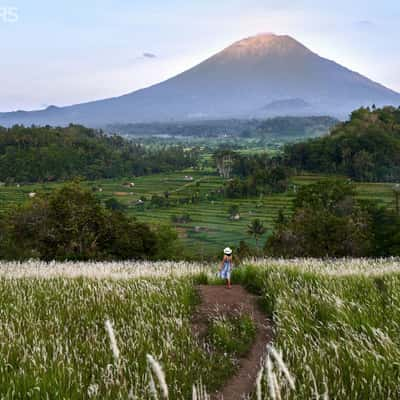
<svg viewBox="0 0 400 400">
<path fill-rule="evenodd" d="M 119 136 L 79 125 L 0 128 L 0 181 L 38 182 L 114 178 L 192 166 L 179 146 L 149 150 Z"/>
</svg>

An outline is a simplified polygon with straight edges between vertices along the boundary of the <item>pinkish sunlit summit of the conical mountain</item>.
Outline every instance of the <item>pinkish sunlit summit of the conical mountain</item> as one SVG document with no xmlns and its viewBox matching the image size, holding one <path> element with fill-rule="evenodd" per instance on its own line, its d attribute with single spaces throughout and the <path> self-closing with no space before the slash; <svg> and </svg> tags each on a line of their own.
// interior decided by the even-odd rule
<svg viewBox="0 0 400 400">
<path fill-rule="evenodd" d="M 233 43 L 222 54 L 233 57 L 243 56 L 285 56 L 289 54 L 309 54 L 311 51 L 288 35 L 260 33 Z"/>
</svg>

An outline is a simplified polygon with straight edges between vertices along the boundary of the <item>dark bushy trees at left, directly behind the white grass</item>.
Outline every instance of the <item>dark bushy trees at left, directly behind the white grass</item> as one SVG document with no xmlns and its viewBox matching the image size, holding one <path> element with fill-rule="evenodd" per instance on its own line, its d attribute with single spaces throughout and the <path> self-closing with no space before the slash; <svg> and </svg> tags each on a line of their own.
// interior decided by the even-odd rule
<svg viewBox="0 0 400 400">
<path fill-rule="evenodd" d="M 174 259 L 182 253 L 177 239 L 170 227 L 150 226 L 106 208 L 75 183 L 0 218 L 0 259 Z"/>
</svg>

